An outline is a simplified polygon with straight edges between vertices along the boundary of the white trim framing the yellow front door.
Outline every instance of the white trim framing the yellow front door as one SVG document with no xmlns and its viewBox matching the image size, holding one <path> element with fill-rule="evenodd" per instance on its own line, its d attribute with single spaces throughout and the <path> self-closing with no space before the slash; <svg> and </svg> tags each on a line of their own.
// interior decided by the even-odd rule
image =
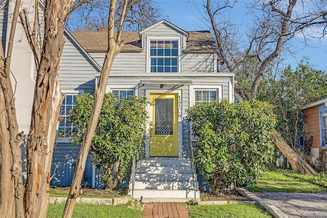
<svg viewBox="0 0 327 218">
<path fill-rule="evenodd" d="M 166 93 L 166 94 L 173 94 L 173 93 L 178 93 L 178 111 L 179 109 L 183 111 L 183 104 L 180 104 L 179 108 L 179 98 L 182 99 L 182 90 L 165 90 L 165 89 L 146 89 L 145 90 L 145 95 L 147 98 L 147 105 L 146 105 L 146 111 L 148 114 L 150 114 L 150 94 L 152 93 Z M 178 158 L 183 157 L 183 122 L 182 122 L 182 117 L 178 116 Z M 150 119 L 150 117 L 149 117 Z M 148 119 L 148 120 L 149 120 Z M 147 122 L 147 131 L 146 131 L 146 145 L 145 145 L 145 152 L 146 152 L 146 158 L 150 157 L 150 122 Z"/>
</svg>

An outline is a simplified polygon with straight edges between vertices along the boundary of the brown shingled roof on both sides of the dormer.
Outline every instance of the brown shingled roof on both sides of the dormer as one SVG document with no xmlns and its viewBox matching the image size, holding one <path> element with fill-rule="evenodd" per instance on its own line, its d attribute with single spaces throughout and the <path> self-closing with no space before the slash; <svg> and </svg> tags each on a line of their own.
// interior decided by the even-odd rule
<svg viewBox="0 0 327 218">
<path fill-rule="evenodd" d="M 107 51 L 108 32 L 70 32 L 85 51 Z M 209 31 L 191 31 L 186 42 L 185 52 L 215 52 L 218 46 Z M 123 51 L 142 51 L 138 32 L 122 32 Z"/>
</svg>

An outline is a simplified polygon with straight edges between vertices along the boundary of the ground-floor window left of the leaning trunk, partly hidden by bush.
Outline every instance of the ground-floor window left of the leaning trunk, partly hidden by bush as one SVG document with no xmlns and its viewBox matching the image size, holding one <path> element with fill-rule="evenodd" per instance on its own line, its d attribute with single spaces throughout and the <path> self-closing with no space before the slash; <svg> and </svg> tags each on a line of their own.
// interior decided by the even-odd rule
<svg viewBox="0 0 327 218">
<path fill-rule="evenodd" d="M 58 137 L 69 137 L 78 132 L 78 128 L 73 126 L 73 123 L 68 117 L 74 106 L 76 106 L 76 95 L 66 94 L 65 99 L 62 101 L 59 111 Z"/>
</svg>

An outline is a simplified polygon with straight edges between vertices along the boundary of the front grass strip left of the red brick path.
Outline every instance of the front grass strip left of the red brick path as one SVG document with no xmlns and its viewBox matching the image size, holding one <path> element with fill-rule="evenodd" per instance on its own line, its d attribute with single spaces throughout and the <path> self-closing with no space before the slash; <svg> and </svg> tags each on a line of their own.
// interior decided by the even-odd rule
<svg viewBox="0 0 327 218">
<path fill-rule="evenodd" d="M 48 218 L 62 217 L 65 204 L 50 204 Z M 131 209 L 127 206 L 104 206 L 104 205 L 90 205 L 90 204 L 76 204 L 74 218 L 101 218 L 101 217 L 130 217 L 130 218 L 141 218 L 143 212 L 141 210 Z"/>
</svg>

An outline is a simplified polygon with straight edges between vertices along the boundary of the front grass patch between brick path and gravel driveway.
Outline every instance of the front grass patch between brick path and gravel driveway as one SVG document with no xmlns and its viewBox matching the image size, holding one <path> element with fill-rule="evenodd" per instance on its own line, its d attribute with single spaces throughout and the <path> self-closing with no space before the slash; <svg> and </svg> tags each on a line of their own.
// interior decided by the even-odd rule
<svg viewBox="0 0 327 218">
<path fill-rule="evenodd" d="M 189 206 L 191 218 L 265 218 L 272 217 L 265 209 L 253 204 Z"/>
</svg>

